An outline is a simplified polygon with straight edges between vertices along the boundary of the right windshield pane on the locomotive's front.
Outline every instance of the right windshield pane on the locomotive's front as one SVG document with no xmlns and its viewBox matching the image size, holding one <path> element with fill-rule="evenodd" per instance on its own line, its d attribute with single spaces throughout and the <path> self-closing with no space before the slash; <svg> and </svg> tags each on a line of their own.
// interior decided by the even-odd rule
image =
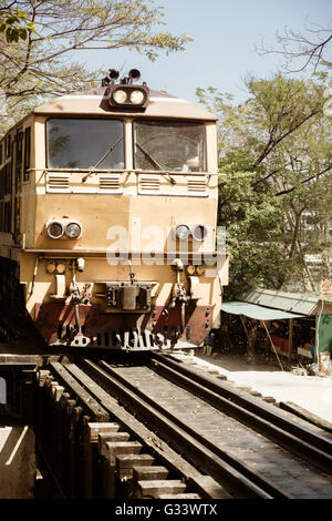
<svg viewBox="0 0 332 521">
<path fill-rule="evenodd" d="M 135 168 L 205 171 L 205 126 L 189 122 L 136 121 Z"/>
</svg>

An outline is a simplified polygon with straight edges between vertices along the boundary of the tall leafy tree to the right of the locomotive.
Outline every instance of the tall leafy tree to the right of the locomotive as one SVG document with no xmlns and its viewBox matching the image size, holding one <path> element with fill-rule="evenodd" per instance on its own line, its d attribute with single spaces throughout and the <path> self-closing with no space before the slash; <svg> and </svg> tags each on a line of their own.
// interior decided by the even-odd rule
<svg viewBox="0 0 332 521">
<path fill-rule="evenodd" d="M 220 183 L 219 224 L 227 227 L 235 275 L 229 290 L 295 280 L 315 289 L 307 258 L 312 253 L 328 258 L 332 223 L 332 206 L 324 205 L 332 172 L 325 85 L 277 74 L 250 78 L 247 88 L 250 98 L 239 106 L 212 88 L 197 92 L 220 122 L 219 170 L 227 176 Z M 322 233 L 303 241 L 308 214 Z"/>
</svg>

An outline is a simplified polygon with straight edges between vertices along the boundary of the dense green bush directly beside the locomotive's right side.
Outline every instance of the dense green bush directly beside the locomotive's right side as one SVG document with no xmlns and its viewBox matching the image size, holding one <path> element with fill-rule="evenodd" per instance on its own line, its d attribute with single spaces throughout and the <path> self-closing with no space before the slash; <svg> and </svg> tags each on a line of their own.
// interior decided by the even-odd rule
<svg viewBox="0 0 332 521">
<path fill-rule="evenodd" d="M 239 165 L 243 164 L 240 156 Z M 249 287 L 279 288 L 291 269 L 282 243 L 284 216 L 268 184 L 253 190 L 256 173 L 235 171 L 236 163 L 220 162 L 227 173 L 219 185 L 218 224 L 226 227 L 230 254 L 228 298 Z"/>
</svg>

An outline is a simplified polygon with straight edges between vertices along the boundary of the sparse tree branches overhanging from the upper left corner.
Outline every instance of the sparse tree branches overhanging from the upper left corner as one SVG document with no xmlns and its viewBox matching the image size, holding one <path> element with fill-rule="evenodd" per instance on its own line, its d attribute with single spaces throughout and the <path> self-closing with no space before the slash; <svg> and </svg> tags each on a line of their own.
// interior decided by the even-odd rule
<svg viewBox="0 0 332 521">
<path fill-rule="evenodd" d="M 180 51 L 190 41 L 155 31 L 163 10 L 153 0 L 15 0 L 10 8 L 27 22 L 27 38 L 0 38 L 0 89 L 15 116 L 40 96 L 95 85 L 102 71 L 74 61 L 77 51 L 129 48 L 155 60 L 159 51 Z"/>
</svg>

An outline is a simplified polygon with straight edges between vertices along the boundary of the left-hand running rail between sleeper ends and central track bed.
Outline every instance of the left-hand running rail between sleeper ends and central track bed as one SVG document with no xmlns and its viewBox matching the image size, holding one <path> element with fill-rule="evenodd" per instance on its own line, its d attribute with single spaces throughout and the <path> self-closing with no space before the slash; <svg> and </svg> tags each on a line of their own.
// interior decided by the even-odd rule
<svg viewBox="0 0 332 521">
<path fill-rule="evenodd" d="M 101 367 L 87 359 L 83 362 L 84 370 L 90 370 L 94 378 L 102 381 L 103 386 L 108 390 L 112 389 L 113 396 L 115 395 L 131 410 L 135 410 L 142 420 L 157 429 L 167 442 L 176 445 L 177 450 L 183 451 L 187 459 L 214 479 L 222 480 L 224 486 L 225 480 L 227 483 L 231 482 L 232 487 L 245 491 L 247 498 L 292 498 L 287 490 L 277 488 L 259 472 L 253 472 L 247 464 L 216 447 L 195 429 L 160 407 L 116 374 L 106 361 L 101 361 L 100 365 Z"/>
</svg>

